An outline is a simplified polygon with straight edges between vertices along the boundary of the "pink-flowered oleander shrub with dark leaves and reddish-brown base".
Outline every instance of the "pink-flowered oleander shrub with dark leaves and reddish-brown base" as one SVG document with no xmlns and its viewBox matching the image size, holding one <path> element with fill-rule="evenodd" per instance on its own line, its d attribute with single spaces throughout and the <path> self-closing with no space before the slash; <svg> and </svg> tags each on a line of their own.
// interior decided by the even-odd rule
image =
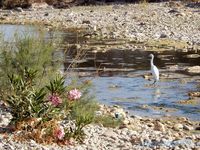
<svg viewBox="0 0 200 150">
<path fill-rule="evenodd" d="M 85 135 L 83 127 L 93 122 L 94 112 L 98 108 L 96 102 L 86 96 L 87 92 L 84 92 L 83 88 L 84 96 L 77 89 L 67 91 L 67 87 L 71 85 L 65 86 L 63 77 L 58 76 L 50 81 L 49 85 L 40 88 L 35 87 L 36 77 L 37 71 L 28 68 L 25 68 L 20 75 L 12 74 L 8 77 L 10 93 L 4 93 L 4 101 L 9 104 L 13 116 L 12 123 L 16 129 L 34 130 L 37 134 L 32 135 L 32 138 L 36 141 L 44 136 L 52 138 L 51 141 L 54 142 L 70 138 L 82 142 Z M 83 85 L 77 85 L 77 87 L 83 87 Z M 39 118 L 41 118 L 40 122 L 38 122 Z M 65 129 L 65 137 L 58 140 L 54 135 L 54 130 L 59 128 L 59 122 L 63 120 L 74 121 L 75 128 Z M 30 125 L 30 121 L 35 125 Z M 47 123 L 52 125 L 46 126 Z M 29 135 L 29 132 L 22 137 L 27 137 L 27 134 Z M 38 136 L 38 134 L 42 135 Z"/>
</svg>

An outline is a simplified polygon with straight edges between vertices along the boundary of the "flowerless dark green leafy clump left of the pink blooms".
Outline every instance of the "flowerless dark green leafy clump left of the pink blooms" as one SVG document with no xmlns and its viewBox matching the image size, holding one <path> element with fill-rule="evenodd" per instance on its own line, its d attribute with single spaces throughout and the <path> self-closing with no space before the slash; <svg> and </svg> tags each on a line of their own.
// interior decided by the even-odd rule
<svg viewBox="0 0 200 150">
<path fill-rule="evenodd" d="M 4 100 L 9 104 L 12 121 L 18 122 L 27 118 L 40 117 L 47 106 L 44 103 L 46 95 L 44 88 L 35 89 L 36 71 L 25 68 L 22 75 L 8 75 L 10 93 L 4 94 Z"/>
</svg>

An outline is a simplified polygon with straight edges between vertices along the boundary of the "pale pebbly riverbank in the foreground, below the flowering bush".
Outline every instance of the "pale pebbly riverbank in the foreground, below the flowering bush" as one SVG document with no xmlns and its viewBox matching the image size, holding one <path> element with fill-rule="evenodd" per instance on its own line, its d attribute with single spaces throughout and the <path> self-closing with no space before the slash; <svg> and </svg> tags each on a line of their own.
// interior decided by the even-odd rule
<svg viewBox="0 0 200 150">
<path fill-rule="evenodd" d="M 106 128 L 102 125 L 90 124 L 84 128 L 86 138 L 82 144 L 72 141 L 71 145 L 41 145 L 33 140 L 17 142 L 13 140 L 18 133 L 3 134 L 4 127 L 9 123 L 11 116 L 4 112 L 1 115 L 0 149 L 23 150 L 104 150 L 104 149 L 200 149 L 200 124 L 185 117 L 171 117 L 163 119 L 142 118 L 129 116 L 119 106 L 101 105 L 98 115 L 111 114 L 119 119 L 124 117 L 123 124 L 117 128 Z"/>
</svg>

